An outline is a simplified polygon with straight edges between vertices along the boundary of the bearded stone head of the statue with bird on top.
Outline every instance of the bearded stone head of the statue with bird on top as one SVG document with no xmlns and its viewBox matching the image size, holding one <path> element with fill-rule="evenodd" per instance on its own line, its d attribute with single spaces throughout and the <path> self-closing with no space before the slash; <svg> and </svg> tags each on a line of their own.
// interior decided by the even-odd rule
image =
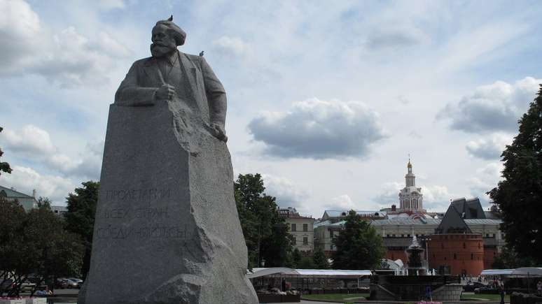
<svg viewBox="0 0 542 304">
<path fill-rule="evenodd" d="M 177 45 L 184 44 L 185 39 L 186 33 L 173 23 L 173 15 L 167 20 L 160 20 L 153 27 L 151 54 L 153 57 L 162 57 L 174 52 Z"/>
</svg>

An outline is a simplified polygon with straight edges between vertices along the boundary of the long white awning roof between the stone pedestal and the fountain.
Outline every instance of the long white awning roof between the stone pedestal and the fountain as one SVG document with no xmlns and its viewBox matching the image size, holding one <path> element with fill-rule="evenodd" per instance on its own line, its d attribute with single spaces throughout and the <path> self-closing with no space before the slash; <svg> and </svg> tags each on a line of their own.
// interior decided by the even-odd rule
<svg viewBox="0 0 542 304">
<path fill-rule="evenodd" d="M 253 268 L 246 275 L 249 279 L 265 275 L 304 275 L 310 277 L 362 277 L 371 275 L 370 270 L 333 270 L 333 269 L 292 269 L 285 267 Z"/>
</svg>

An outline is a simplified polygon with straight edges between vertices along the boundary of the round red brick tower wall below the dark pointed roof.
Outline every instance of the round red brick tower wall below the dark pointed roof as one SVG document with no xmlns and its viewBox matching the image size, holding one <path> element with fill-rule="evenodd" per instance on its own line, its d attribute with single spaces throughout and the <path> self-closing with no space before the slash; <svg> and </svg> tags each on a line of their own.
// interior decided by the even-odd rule
<svg viewBox="0 0 542 304">
<path fill-rule="evenodd" d="M 484 270 L 484 242 L 480 234 L 429 236 L 429 266 L 450 266 L 452 275 L 480 275 Z"/>
</svg>

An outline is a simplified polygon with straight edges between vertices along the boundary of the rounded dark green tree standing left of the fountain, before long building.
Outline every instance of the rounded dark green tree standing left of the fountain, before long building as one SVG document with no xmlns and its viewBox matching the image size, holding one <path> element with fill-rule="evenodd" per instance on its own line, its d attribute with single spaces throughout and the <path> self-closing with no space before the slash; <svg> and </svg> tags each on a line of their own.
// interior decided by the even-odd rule
<svg viewBox="0 0 542 304">
<path fill-rule="evenodd" d="M 374 227 L 354 210 L 350 210 L 343 226 L 339 236 L 333 240 L 337 247 L 333 252 L 333 268 L 368 270 L 380 266 L 386 249 Z"/>
</svg>

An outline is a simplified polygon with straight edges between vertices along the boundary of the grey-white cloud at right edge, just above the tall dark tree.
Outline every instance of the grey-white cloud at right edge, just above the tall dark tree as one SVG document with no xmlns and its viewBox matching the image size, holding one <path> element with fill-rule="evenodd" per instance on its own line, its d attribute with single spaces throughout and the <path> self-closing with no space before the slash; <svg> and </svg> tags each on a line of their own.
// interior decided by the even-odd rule
<svg viewBox="0 0 542 304">
<path fill-rule="evenodd" d="M 526 77 L 513 84 L 496 81 L 449 103 L 437 118 L 450 120 L 450 128 L 479 133 L 517 131 L 517 120 L 527 111 L 542 79 Z"/>
</svg>

